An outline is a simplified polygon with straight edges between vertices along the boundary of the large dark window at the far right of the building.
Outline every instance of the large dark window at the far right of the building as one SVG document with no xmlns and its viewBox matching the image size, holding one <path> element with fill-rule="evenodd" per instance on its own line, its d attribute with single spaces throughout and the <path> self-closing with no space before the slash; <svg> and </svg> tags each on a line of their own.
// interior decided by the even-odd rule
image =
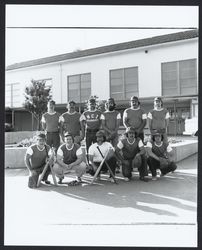
<svg viewBox="0 0 202 250">
<path fill-rule="evenodd" d="M 196 59 L 162 63 L 162 95 L 197 94 Z"/>
</svg>

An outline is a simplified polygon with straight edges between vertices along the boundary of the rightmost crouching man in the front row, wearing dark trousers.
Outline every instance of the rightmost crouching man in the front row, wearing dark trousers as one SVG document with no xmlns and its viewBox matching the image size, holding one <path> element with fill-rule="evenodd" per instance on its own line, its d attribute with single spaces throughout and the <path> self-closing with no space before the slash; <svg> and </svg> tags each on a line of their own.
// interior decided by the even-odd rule
<svg viewBox="0 0 202 250">
<path fill-rule="evenodd" d="M 152 180 L 157 180 L 157 169 L 160 169 L 162 175 L 176 170 L 173 150 L 169 143 L 163 140 L 161 133 L 156 132 L 151 142 L 147 143 L 147 152 L 149 156 L 147 163 L 152 173 Z"/>
</svg>

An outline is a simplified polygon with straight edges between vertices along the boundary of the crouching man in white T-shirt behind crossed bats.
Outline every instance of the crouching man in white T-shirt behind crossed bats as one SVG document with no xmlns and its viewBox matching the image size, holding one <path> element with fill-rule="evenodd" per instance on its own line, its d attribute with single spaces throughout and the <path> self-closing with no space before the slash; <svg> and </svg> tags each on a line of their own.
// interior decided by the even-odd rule
<svg viewBox="0 0 202 250">
<path fill-rule="evenodd" d="M 89 163 L 90 166 L 93 168 L 93 171 L 89 171 L 91 175 L 94 175 L 96 170 L 98 169 L 100 163 L 102 162 L 103 158 L 106 156 L 106 161 L 103 163 L 101 171 L 107 172 L 108 168 L 107 165 L 110 167 L 113 175 L 115 176 L 115 169 L 116 169 L 116 158 L 114 154 L 114 148 L 111 143 L 106 141 L 105 133 L 99 130 L 96 133 L 97 142 L 92 144 L 89 148 Z M 100 171 L 100 172 L 101 172 Z M 100 179 L 100 172 L 97 176 L 97 179 Z M 111 182 L 115 182 L 111 173 L 109 176 L 109 180 Z"/>
</svg>

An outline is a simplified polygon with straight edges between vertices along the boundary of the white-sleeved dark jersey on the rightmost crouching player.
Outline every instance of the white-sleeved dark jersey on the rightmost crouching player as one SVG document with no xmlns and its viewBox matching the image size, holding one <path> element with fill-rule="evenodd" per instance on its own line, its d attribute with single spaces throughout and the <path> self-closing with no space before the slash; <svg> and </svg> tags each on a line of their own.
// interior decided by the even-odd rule
<svg viewBox="0 0 202 250">
<path fill-rule="evenodd" d="M 151 148 L 156 156 L 163 158 L 167 158 L 167 153 L 172 151 L 172 147 L 166 142 L 161 142 L 160 145 L 155 142 L 147 142 L 147 147 Z"/>
</svg>

